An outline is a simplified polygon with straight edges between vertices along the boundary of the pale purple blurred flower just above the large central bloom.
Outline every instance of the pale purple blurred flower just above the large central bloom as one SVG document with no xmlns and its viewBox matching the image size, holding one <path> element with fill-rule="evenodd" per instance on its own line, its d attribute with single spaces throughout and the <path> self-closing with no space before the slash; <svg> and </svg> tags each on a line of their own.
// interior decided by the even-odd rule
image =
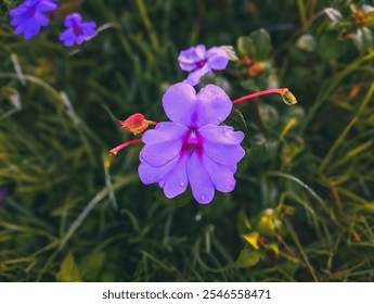
<svg viewBox="0 0 374 304">
<path fill-rule="evenodd" d="M 181 51 L 178 61 L 183 71 L 190 72 L 183 83 L 196 86 L 205 74 L 212 73 L 214 69 L 224 69 L 229 63 L 229 55 L 220 47 L 206 50 L 204 45 L 198 45 Z"/>
</svg>

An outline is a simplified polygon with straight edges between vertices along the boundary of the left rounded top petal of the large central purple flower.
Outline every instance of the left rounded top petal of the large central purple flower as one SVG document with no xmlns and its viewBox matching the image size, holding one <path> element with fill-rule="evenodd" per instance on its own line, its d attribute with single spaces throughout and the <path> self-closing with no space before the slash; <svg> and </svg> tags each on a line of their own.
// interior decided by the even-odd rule
<svg viewBox="0 0 374 304">
<path fill-rule="evenodd" d="M 172 85 L 163 97 L 163 105 L 171 122 L 190 126 L 196 109 L 196 91 L 188 84 Z"/>
</svg>

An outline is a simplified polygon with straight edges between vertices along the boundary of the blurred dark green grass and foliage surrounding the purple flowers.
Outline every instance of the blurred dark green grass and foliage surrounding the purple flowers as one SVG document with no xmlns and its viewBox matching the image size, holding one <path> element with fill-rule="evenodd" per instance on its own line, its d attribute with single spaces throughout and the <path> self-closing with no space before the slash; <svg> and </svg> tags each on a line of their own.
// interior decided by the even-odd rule
<svg viewBox="0 0 374 304">
<path fill-rule="evenodd" d="M 373 1 L 60 1 L 14 36 L 0 1 L 0 281 L 373 281 Z M 59 40 L 79 11 L 100 33 Z M 209 205 L 141 183 L 116 122 L 165 121 L 181 50 L 233 46 L 203 81 L 238 104 L 247 156 Z"/>
</svg>

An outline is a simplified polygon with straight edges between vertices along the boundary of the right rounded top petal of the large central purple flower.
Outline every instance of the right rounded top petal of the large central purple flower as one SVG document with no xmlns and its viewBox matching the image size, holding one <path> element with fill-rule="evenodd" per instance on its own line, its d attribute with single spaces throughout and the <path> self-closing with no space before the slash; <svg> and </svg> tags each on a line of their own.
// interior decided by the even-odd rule
<svg viewBox="0 0 374 304">
<path fill-rule="evenodd" d="M 231 113 L 232 102 L 219 87 L 207 85 L 197 94 L 197 125 L 218 125 Z"/>
</svg>

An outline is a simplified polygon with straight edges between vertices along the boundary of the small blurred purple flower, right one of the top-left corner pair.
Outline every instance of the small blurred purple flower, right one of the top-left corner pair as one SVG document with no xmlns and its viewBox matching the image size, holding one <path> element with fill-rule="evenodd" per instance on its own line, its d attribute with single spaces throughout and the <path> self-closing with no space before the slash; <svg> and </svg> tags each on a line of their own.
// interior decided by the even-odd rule
<svg viewBox="0 0 374 304">
<path fill-rule="evenodd" d="M 73 47 L 74 43 L 81 45 L 96 34 L 96 24 L 93 21 L 82 22 L 79 13 L 73 13 L 65 17 L 65 29 L 60 34 L 59 39 L 65 47 Z"/>
</svg>

